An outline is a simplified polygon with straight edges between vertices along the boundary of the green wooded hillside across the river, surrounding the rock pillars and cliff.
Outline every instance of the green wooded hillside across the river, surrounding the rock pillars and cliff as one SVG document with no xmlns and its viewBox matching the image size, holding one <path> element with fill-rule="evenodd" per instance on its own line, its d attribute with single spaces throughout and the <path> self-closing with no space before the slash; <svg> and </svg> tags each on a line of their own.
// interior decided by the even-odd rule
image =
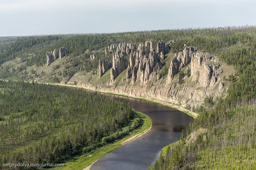
<svg viewBox="0 0 256 170">
<path fill-rule="evenodd" d="M 0 78 L 7 80 L 42 81 L 76 84 L 83 81 L 96 87 L 112 88 L 130 83 L 124 70 L 113 85 L 108 84 L 110 70 L 99 79 L 99 59 L 112 59 L 105 48 L 115 43 L 145 43 L 159 40 L 171 43 L 161 69 L 163 79 L 150 85 L 165 83 L 170 60 L 184 44 L 213 54 L 226 67 L 222 80 L 231 83 L 221 97 L 204 99 L 196 108 L 198 117 L 183 134 L 179 143 L 172 144 L 150 169 L 246 169 L 256 168 L 256 27 L 218 27 L 202 29 L 156 30 L 113 34 L 47 35 L 0 38 Z M 66 47 L 68 55 L 46 67 L 46 51 Z M 156 49 L 156 48 L 155 48 Z M 91 62 L 90 55 L 96 58 Z M 230 70 L 228 66 L 234 66 Z M 233 68 L 233 67 L 232 67 Z M 183 69 L 186 74 L 185 67 Z M 189 72 L 189 71 L 188 71 Z M 189 73 L 188 73 L 189 75 Z M 183 75 L 182 78 L 184 78 Z M 179 75 L 175 77 L 178 80 Z M 186 76 L 185 76 L 186 77 Z M 181 79 L 182 79 L 181 78 Z M 188 76 L 187 76 L 188 78 Z M 189 80 L 189 79 L 188 79 Z M 180 82 L 182 86 L 182 81 Z M 188 82 L 185 82 L 188 83 Z M 83 84 L 77 84 L 83 85 Z M 138 82 L 131 87 L 139 87 Z M 154 86 L 154 87 L 155 87 Z M 52 87 L 53 88 L 53 87 Z M 150 88 L 150 87 L 149 87 Z M 15 115 L 19 116 L 19 113 Z M 3 114 L 4 115 L 4 114 Z M 15 116 L 14 116 L 15 117 Z M 15 119 L 15 118 L 13 118 Z M 1 122 L 1 121 L 0 121 Z M 126 122 L 127 124 L 127 122 Z"/>
</svg>

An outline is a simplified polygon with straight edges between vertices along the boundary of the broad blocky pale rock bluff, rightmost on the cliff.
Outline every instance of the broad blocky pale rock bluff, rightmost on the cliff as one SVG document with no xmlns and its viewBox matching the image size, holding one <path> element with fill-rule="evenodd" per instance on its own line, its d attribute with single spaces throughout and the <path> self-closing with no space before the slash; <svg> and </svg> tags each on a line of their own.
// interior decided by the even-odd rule
<svg viewBox="0 0 256 170">
<path fill-rule="evenodd" d="M 213 55 L 194 53 L 191 58 L 192 81 L 197 81 L 199 87 L 213 87 L 222 73 L 218 62 L 219 59 Z"/>
</svg>

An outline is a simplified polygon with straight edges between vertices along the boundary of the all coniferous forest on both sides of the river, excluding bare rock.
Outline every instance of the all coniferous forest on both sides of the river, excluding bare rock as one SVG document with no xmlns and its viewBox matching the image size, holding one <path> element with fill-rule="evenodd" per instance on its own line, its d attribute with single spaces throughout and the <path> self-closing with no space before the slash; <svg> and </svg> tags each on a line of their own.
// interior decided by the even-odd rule
<svg viewBox="0 0 256 170">
<path fill-rule="evenodd" d="M 234 74 L 223 78 L 231 81 L 225 96 L 209 96 L 201 106 L 190 107 L 198 116 L 180 141 L 161 153 L 149 169 L 256 169 L 255 26 L 0 37 L 0 78 L 32 81 L 44 77 L 43 71 L 29 72 L 27 67 L 45 66 L 46 51 L 62 46 L 68 49 L 68 61 L 63 70 L 51 73 L 48 82 L 70 79 L 79 71 L 94 74 L 99 58 L 112 58 L 104 53 L 108 45 L 147 40 L 174 40 L 172 53 L 182 51 L 184 44 L 196 46 L 235 68 Z M 86 51 L 95 52 L 97 60 L 91 62 Z M 15 58 L 20 58 L 21 65 L 8 63 Z M 180 85 L 185 74 L 189 71 L 177 75 Z M 0 85 L 3 162 L 58 162 L 79 151 L 90 153 L 141 125 L 128 103 L 97 93 L 23 81 L 0 81 Z"/>
</svg>

